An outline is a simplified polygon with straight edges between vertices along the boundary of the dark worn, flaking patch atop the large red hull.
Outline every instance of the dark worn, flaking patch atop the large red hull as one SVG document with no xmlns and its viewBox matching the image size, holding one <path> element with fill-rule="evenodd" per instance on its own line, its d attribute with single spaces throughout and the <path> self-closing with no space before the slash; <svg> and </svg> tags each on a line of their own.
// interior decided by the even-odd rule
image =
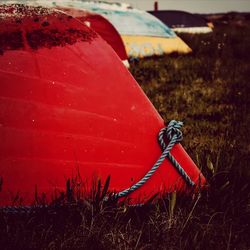
<svg viewBox="0 0 250 250">
<path fill-rule="evenodd" d="M 0 54 L 26 46 L 39 49 L 91 42 L 97 37 L 87 26 L 81 25 L 80 29 L 78 26 L 72 17 L 55 10 L 21 4 L 1 5 Z"/>
</svg>

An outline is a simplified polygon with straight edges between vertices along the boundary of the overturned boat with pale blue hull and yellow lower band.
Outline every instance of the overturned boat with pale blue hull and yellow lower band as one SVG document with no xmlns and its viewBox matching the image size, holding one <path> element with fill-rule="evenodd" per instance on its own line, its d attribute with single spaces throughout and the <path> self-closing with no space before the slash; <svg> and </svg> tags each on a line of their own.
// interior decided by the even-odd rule
<svg viewBox="0 0 250 250">
<path fill-rule="evenodd" d="M 36 2 L 48 6 L 89 10 L 104 16 L 120 33 L 127 54 L 132 58 L 191 52 L 188 45 L 159 19 L 128 4 L 67 0 Z"/>
</svg>

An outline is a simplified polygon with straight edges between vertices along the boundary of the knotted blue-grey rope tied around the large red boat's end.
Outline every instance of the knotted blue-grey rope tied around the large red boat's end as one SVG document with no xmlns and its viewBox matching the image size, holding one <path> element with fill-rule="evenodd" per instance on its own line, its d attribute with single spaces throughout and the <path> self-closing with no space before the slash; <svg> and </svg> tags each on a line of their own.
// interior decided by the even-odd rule
<svg viewBox="0 0 250 250">
<path fill-rule="evenodd" d="M 137 183 L 135 183 L 131 187 L 115 194 L 117 198 L 127 196 L 130 193 L 137 190 L 138 188 L 140 188 L 142 185 L 144 185 L 152 177 L 155 171 L 160 167 L 165 158 L 167 158 L 173 164 L 173 166 L 176 168 L 181 177 L 185 180 L 185 182 L 189 186 L 194 186 L 194 182 L 191 180 L 191 178 L 188 176 L 185 170 L 181 167 L 181 165 L 175 160 L 175 158 L 170 153 L 173 146 L 182 141 L 183 139 L 182 132 L 180 130 L 182 126 L 183 126 L 182 122 L 172 120 L 169 122 L 167 128 L 162 128 L 160 130 L 158 134 L 158 141 L 162 149 L 162 154 L 160 158 L 157 160 L 154 166 L 144 175 L 142 179 L 140 179 Z M 164 141 L 165 136 L 169 140 L 168 145 L 166 145 Z"/>
</svg>

